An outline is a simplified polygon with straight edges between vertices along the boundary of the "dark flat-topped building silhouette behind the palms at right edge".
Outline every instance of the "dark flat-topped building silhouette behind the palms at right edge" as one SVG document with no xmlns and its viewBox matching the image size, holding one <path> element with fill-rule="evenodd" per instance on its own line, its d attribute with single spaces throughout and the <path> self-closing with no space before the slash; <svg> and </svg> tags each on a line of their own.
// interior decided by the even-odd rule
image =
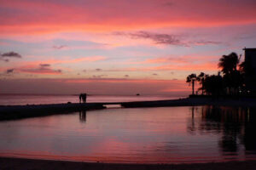
<svg viewBox="0 0 256 170">
<path fill-rule="evenodd" d="M 256 48 L 243 48 L 245 52 L 245 83 L 247 93 L 256 95 Z"/>
</svg>

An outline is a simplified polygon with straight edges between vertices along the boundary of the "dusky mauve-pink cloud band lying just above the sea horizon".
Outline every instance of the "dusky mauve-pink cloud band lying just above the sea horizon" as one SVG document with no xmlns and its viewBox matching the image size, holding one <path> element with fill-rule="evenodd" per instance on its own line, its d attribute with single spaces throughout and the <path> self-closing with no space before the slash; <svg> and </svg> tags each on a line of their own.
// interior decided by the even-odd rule
<svg viewBox="0 0 256 170">
<path fill-rule="evenodd" d="M 20 94 L 172 94 L 188 95 L 191 88 L 185 80 L 148 80 L 128 78 L 27 78 L 0 80 L 6 93 Z M 169 92 L 170 91 L 170 92 Z"/>
</svg>

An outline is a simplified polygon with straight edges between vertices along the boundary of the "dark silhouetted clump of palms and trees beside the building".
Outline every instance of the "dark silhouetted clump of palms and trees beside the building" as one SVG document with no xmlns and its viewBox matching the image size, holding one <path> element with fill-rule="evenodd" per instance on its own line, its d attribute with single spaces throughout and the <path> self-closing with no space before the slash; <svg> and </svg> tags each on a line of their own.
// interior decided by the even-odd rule
<svg viewBox="0 0 256 170">
<path fill-rule="evenodd" d="M 207 75 L 204 72 L 196 77 L 196 75 L 190 74 L 187 77 L 189 86 L 192 83 L 192 94 L 195 93 L 195 82 L 201 84 L 201 94 L 207 94 L 212 96 L 220 95 L 241 95 L 249 93 L 247 90 L 247 78 L 248 76 L 254 77 L 253 71 L 249 67 L 250 61 L 241 62 L 241 55 L 238 57 L 236 53 L 230 53 L 229 55 L 223 55 L 218 62 L 218 75 Z"/>
</svg>

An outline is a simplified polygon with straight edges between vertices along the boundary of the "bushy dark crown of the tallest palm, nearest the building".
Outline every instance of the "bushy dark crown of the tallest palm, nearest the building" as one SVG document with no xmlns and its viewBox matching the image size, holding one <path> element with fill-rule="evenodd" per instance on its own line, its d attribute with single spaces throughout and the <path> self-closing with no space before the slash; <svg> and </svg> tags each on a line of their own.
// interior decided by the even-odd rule
<svg viewBox="0 0 256 170">
<path fill-rule="evenodd" d="M 232 71 L 236 71 L 240 58 L 238 58 L 236 53 L 223 55 L 222 58 L 219 59 L 218 67 L 221 68 L 221 71 L 224 73 L 224 75 L 230 74 Z"/>
</svg>

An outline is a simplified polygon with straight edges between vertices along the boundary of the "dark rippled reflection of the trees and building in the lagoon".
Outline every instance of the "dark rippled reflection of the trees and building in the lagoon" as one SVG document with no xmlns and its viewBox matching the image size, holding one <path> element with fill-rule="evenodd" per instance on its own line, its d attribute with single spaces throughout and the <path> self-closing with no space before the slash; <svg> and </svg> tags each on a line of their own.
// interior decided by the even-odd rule
<svg viewBox="0 0 256 170">
<path fill-rule="evenodd" d="M 195 120 L 195 112 L 198 115 Z M 255 108 L 220 106 L 191 107 L 189 134 L 218 134 L 218 147 L 224 156 L 239 151 L 256 151 Z"/>
</svg>

